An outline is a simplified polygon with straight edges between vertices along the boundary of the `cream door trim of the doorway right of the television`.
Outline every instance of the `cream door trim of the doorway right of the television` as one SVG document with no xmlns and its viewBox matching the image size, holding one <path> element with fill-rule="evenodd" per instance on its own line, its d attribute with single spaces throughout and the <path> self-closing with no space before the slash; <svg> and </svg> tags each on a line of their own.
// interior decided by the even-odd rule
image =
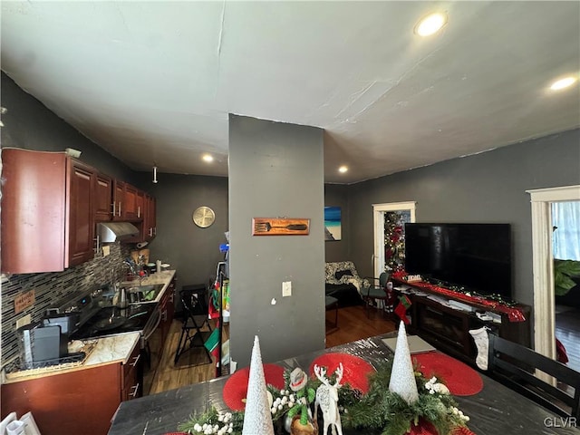
<svg viewBox="0 0 580 435">
<path fill-rule="evenodd" d="M 527 190 L 532 206 L 534 274 L 534 344 L 536 352 L 556 359 L 552 207 L 554 202 L 580 200 L 580 185 Z"/>
</svg>

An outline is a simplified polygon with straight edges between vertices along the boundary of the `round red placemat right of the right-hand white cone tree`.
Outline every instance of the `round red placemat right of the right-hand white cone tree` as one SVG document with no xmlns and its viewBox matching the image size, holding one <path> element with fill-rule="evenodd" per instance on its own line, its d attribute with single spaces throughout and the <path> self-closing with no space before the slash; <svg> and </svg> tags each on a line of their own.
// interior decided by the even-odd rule
<svg viewBox="0 0 580 435">
<path fill-rule="evenodd" d="M 420 372 L 427 379 L 437 377 L 456 396 L 477 394 L 483 388 L 479 373 L 469 365 L 438 352 L 417 353 L 412 355 L 419 365 Z"/>
</svg>

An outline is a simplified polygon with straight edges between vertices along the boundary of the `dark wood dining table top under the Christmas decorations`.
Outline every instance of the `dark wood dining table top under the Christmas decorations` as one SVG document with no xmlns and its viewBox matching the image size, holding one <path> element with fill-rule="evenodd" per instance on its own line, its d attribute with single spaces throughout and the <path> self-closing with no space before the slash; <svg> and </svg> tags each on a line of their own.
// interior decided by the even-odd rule
<svg viewBox="0 0 580 435">
<path fill-rule="evenodd" d="M 308 372 L 313 362 L 324 361 L 324 357 L 346 354 L 362 359 L 376 369 L 392 360 L 394 356 L 391 347 L 383 341 L 389 337 L 392 337 L 392 333 L 304 353 L 274 364 L 284 370 L 300 367 L 304 372 Z M 432 352 L 442 354 L 438 350 Z M 449 355 L 445 357 L 451 361 Z M 463 362 L 457 362 L 457 364 L 463 364 Z M 466 364 L 466 367 L 469 366 Z M 471 370 L 470 367 L 469 370 Z M 471 376 L 474 376 L 472 372 L 476 372 L 476 369 L 471 371 Z M 208 411 L 212 406 L 218 411 L 230 411 L 232 405 L 230 402 L 228 406 L 227 401 L 224 400 L 227 397 L 224 387 L 234 375 L 236 373 L 208 382 L 199 382 L 175 390 L 123 401 L 113 417 L 108 435 L 160 435 L 177 432 L 179 423 L 188 420 L 193 412 Z M 461 375 L 458 373 L 457 376 Z M 478 388 L 473 393 L 469 393 L 468 388 L 468 391 L 463 391 L 461 395 L 454 395 L 459 409 L 469 416 L 467 422 L 469 430 L 476 435 L 580 434 L 580 429 L 574 419 L 566 419 L 548 411 L 535 401 L 495 381 L 484 371 L 477 369 L 476 378 L 469 381 L 478 382 Z M 374 432 L 343 428 L 344 435 L 362 433 L 372 435 Z"/>
</svg>

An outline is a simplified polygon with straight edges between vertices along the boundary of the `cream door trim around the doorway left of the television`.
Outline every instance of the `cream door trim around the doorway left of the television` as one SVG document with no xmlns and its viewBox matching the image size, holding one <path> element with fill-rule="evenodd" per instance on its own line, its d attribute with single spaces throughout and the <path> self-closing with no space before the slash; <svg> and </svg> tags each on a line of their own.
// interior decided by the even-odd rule
<svg viewBox="0 0 580 435">
<path fill-rule="evenodd" d="M 381 275 L 387 264 L 385 253 L 385 223 L 389 223 L 389 218 L 399 216 L 404 222 L 415 222 L 414 201 L 390 202 L 385 204 L 372 205 L 372 217 L 374 222 L 374 252 L 372 254 L 372 271 L 374 276 Z M 387 215 L 391 213 L 391 215 Z"/>
</svg>

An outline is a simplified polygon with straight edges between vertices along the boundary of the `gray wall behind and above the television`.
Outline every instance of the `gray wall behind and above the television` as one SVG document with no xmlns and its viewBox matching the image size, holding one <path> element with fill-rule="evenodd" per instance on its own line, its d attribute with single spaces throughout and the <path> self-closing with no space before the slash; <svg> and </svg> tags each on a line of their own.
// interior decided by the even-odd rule
<svg viewBox="0 0 580 435">
<path fill-rule="evenodd" d="M 528 189 L 580 184 L 580 130 L 408 170 L 349 187 L 351 256 L 371 275 L 372 204 L 417 201 L 418 222 L 505 222 L 512 227 L 514 297 L 533 303 Z"/>
</svg>

